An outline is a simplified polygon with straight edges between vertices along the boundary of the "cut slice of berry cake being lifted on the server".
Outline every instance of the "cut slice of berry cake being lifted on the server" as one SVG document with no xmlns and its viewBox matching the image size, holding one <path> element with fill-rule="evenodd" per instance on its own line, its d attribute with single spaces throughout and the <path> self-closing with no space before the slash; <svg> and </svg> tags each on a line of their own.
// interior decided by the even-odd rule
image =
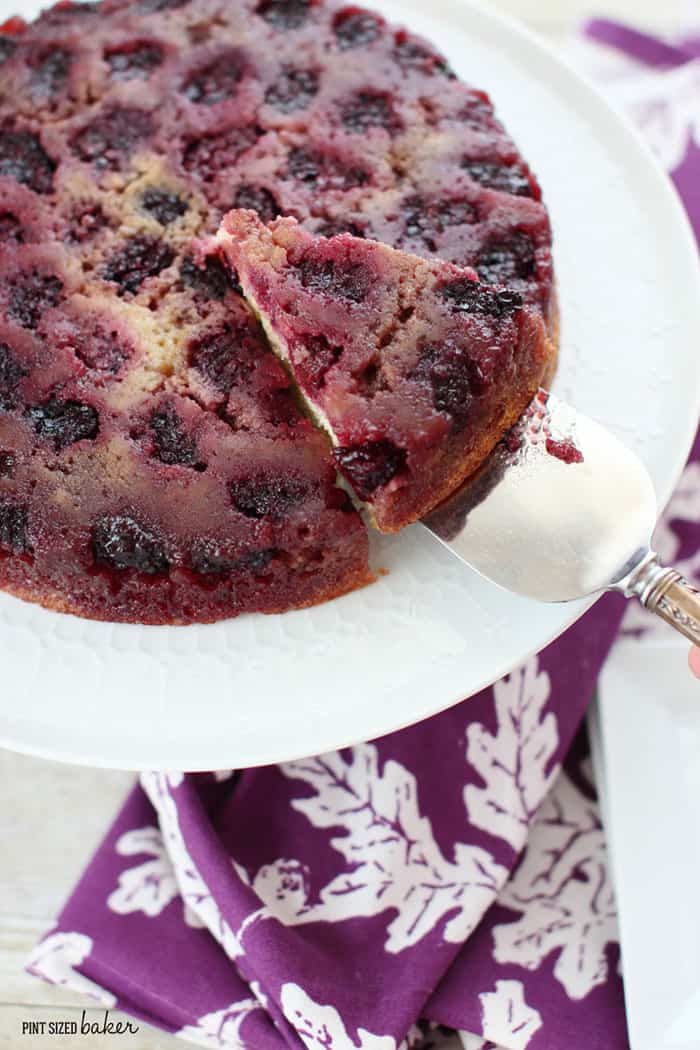
<svg viewBox="0 0 700 1050">
<path fill-rule="evenodd" d="M 383 532 L 481 464 L 553 359 L 539 311 L 473 270 L 241 210 L 215 245 Z"/>
</svg>

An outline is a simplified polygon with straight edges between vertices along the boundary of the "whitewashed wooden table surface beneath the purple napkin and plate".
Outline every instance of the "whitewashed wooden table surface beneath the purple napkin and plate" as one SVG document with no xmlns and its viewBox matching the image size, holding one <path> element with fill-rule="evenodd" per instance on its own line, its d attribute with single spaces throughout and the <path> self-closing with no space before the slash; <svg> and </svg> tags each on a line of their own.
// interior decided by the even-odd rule
<svg viewBox="0 0 700 1050">
<path fill-rule="evenodd" d="M 370 5 L 370 0 L 366 2 Z M 601 0 L 595 7 L 590 0 L 495 0 L 491 5 L 554 39 L 565 39 L 578 20 L 592 14 L 671 33 L 688 23 L 700 24 L 700 0 Z M 86 1008 L 82 998 L 28 976 L 23 966 L 133 779 L 130 773 L 86 770 L 0 751 L 0 1048 L 87 1046 L 77 1036 L 21 1036 L 22 1021 L 70 1020 Z M 100 1015 L 89 1008 L 88 1013 Z M 119 1014 L 111 1016 L 118 1020 Z M 103 1042 L 122 1050 L 183 1046 L 146 1025 L 136 1035 L 102 1036 Z"/>
</svg>

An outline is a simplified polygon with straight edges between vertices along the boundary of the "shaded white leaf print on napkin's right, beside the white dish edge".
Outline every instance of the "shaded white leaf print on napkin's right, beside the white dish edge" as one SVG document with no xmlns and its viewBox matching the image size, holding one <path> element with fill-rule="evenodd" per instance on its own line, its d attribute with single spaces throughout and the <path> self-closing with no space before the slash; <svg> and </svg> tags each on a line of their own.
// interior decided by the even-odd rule
<svg viewBox="0 0 700 1050">
<path fill-rule="evenodd" d="M 499 904 L 521 912 L 493 928 L 493 958 L 536 970 L 554 950 L 554 976 L 572 1000 L 608 979 L 615 901 L 598 806 L 566 773 L 542 805 L 523 861 Z"/>
</svg>

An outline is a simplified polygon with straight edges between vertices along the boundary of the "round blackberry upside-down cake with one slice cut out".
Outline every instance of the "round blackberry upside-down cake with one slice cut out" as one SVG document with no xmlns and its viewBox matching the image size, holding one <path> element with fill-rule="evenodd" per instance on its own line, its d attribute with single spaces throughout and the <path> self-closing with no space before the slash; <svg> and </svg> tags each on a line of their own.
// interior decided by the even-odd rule
<svg viewBox="0 0 700 1050">
<path fill-rule="evenodd" d="M 554 323 L 537 183 L 488 98 L 424 40 L 323 0 L 62 2 L 12 19 L 0 588 L 167 624 L 370 579 L 327 438 L 235 277 L 193 248 L 231 208 L 472 267 Z M 432 383 L 429 357 L 418 368 Z"/>
</svg>

